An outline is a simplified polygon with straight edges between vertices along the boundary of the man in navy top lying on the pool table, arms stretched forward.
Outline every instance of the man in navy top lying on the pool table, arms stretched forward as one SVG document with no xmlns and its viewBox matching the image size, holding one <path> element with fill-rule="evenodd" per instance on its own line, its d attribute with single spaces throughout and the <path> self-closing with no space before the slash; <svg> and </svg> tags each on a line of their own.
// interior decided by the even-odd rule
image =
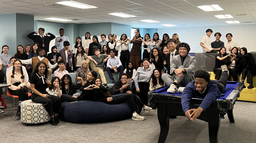
<svg viewBox="0 0 256 143">
<path fill-rule="evenodd" d="M 219 82 L 210 80 L 210 75 L 205 70 L 195 72 L 195 80 L 191 81 L 182 92 L 182 109 L 187 118 L 195 120 L 205 111 L 216 97 L 224 96 L 222 92 L 225 90 L 229 71 L 226 65 L 221 66 L 222 75 Z M 190 109 L 191 97 L 203 98 L 202 103 L 197 109 Z"/>
</svg>

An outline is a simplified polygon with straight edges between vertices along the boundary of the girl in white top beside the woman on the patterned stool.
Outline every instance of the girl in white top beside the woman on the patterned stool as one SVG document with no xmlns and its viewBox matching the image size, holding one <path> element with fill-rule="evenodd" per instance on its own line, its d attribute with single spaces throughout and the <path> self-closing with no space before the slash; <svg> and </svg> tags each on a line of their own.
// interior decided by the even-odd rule
<svg viewBox="0 0 256 143">
<path fill-rule="evenodd" d="M 46 89 L 46 91 L 50 95 L 60 97 L 62 95 L 62 91 L 60 90 L 59 83 L 60 83 L 60 80 L 59 80 L 58 76 L 53 77 L 51 80 L 51 85 L 49 88 Z"/>
</svg>

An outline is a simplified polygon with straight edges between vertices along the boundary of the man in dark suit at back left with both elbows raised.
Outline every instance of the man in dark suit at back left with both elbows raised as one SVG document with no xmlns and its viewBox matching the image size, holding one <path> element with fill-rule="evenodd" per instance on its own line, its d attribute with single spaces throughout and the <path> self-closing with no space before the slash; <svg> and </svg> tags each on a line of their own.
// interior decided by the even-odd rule
<svg viewBox="0 0 256 143">
<path fill-rule="evenodd" d="M 36 31 L 31 32 L 28 34 L 27 37 L 31 38 L 34 42 L 37 42 L 40 45 L 40 48 L 45 49 L 45 51 L 46 51 L 45 55 L 47 55 L 47 53 L 49 52 L 50 41 L 53 40 L 55 38 L 55 36 L 51 33 L 46 33 L 44 35 L 44 28 L 38 29 L 39 35 L 34 35 L 34 34 L 37 34 L 37 32 Z M 50 35 L 50 36 L 48 36 L 48 35 Z"/>
</svg>

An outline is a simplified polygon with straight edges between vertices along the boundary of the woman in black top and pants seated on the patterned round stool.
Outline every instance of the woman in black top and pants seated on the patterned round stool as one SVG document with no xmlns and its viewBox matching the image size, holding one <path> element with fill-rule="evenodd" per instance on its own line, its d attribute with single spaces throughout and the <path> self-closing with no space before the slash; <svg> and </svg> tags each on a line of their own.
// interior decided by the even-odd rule
<svg viewBox="0 0 256 143">
<path fill-rule="evenodd" d="M 30 86 L 33 91 L 32 101 L 41 103 L 50 115 L 50 122 L 52 125 L 58 124 L 58 113 L 61 112 L 60 98 L 48 94 L 46 89 L 50 87 L 51 82 L 47 79 L 47 65 L 40 61 L 36 64 L 36 68 L 30 78 Z"/>
</svg>

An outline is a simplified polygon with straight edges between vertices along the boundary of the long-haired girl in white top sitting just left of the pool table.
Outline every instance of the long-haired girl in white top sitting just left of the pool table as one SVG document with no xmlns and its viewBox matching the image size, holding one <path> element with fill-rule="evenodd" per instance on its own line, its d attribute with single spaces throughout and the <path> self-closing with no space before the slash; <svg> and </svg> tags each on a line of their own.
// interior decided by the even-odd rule
<svg viewBox="0 0 256 143">
<path fill-rule="evenodd" d="M 149 90 L 155 90 L 159 87 L 165 86 L 165 82 L 162 80 L 160 75 L 160 71 L 156 68 L 153 70 L 152 78 L 150 79 L 149 83 Z"/>
</svg>

